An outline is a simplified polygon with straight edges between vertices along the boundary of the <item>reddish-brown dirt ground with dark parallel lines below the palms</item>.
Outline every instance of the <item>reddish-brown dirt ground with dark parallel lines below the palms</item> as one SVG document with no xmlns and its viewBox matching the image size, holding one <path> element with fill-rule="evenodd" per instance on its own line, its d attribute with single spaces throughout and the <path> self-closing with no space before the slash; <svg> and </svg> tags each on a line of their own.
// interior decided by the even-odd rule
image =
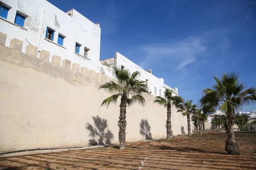
<svg viewBox="0 0 256 170">
<path fill-rule="evenodd" d="M 236 133 L 241 155 L 225 152 L 225 133 L 193 134 L 115 147 L 70 150 L 0 159 L 1 170 L 256 170 L 256 134 Z M 132 148 L 137 146 L 137 148 Z M 141 165 L 143 161 L 144 166 Z"/>
</svg>

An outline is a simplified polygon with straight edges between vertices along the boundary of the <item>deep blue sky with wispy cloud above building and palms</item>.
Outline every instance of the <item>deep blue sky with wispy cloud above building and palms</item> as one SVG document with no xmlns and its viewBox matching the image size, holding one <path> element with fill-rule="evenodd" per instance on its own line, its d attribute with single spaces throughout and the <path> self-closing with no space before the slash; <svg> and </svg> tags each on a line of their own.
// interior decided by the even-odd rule
<svg viewBox="0 0 256 170">
<path fill-rule="evenodd" d="M 256 86 L 256 0 L 48 1 L 100 23 L 101 59 L 118 51 L 195 104 L 212 75 L 236 71 Z"/>
</svg>

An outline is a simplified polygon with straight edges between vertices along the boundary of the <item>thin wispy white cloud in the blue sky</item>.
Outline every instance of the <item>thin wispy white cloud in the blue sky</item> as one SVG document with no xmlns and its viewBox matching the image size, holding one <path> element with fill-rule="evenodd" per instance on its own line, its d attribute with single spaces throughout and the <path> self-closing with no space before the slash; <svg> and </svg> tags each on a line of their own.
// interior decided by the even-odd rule
<svg viewBox="0 0 256 170">
<path fill-rule="evenodd" d="M 146 56 L 140 63 L 144 68 L 153 64 L 155 57 L 158 60 L 171 60 L 176 68 L 183 68 L 202 53 L 207 53 L 207 45 L 200 37 L 188 37 L 177 42 L 144 45 L 141 50 Z"/>
</svg>

